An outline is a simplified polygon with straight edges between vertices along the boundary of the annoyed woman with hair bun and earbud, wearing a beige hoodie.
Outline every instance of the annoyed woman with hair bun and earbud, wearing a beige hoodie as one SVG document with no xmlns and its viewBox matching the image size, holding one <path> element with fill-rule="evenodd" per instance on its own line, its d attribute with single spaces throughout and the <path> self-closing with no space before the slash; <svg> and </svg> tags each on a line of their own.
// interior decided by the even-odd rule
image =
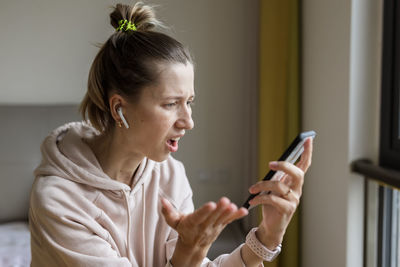
<svg viewBox="0 0 400 267">
<path fill-rule="evenodd" d="M 246 243 L 213 262 L 208 249 L 246 216 L 227 198 L 194 211 L 183 165 L 170 156 L 193 128 L 193 63 L 143 4 L 118 4 L 116 32 L 97 54 L 81 111 L 42 144 L 30 201 L 32 266 L 260 266 L 280 252 L 311 161 L 311 141 L 287 175 L 259 182 L 263 220 Z M 89 122 L 90 121 L 90 122 Z"/>
</svg>

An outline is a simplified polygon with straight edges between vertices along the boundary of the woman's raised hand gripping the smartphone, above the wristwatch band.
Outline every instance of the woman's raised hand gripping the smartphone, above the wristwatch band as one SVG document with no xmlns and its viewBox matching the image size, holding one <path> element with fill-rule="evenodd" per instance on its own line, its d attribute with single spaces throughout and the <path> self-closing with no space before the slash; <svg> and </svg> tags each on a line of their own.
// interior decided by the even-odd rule
<svg viewBox="0 0 400 267">
<path fill-rule="evenodd" d="M 285 173 L 280 181 L 260 181 L 249 189 L 252 194 L 271 192 L 259 194 L 250 201 L 250 205 L 262 205 L 263 220 L 256 235 L 269 249 L 275 249 L 282 243 L 286 228 L 299 205 L 304 174 L 311 165 L 311 156 L 312 139 L 309 138 L 296 165 L 283 161 L 270 163 L 272 170 Z"/>
</svg>

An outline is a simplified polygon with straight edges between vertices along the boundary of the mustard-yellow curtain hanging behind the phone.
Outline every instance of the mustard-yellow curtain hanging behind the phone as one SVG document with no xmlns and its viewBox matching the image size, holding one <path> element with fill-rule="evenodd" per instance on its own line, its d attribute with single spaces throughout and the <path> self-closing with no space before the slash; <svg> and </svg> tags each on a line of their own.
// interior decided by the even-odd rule
<svg viewBox="0 0 400 267">
<path fill-rule="evenodd" d="M 299 2 L 260 0 L 259 175 L 268 170 L 300 129 Z M 298 267 L 299 215 L 292 219 L 281 255 L 268 267 Z"/>
</svg>

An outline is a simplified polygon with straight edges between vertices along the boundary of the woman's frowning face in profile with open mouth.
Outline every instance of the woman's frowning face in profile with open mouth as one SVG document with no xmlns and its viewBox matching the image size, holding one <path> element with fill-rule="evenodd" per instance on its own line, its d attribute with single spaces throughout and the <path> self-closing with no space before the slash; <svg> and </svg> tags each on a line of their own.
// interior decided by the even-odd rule
<svg viewBox="0 0 400 267">
<path fill-rule="evenodd" d="M 158 83 L 144 88 L 139 101 L 124 110 L 130 126 L 123 131 L 129 150 L 155 161 L 163 161 L 169 153 L 176 152 L 185 130 L 194 126 L 192 64 L 164 64 L 161 70 Z"/>
</svg>

